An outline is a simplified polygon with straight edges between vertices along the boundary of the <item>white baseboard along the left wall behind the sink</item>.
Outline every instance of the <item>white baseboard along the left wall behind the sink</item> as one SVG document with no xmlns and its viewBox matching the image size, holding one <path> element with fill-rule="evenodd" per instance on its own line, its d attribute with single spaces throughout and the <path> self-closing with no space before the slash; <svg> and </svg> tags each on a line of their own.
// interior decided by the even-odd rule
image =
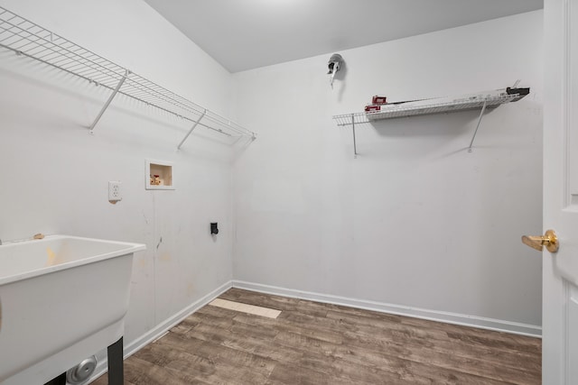
<svg viewBox="0 0 578 385">
<path fill-rule="evenodd" d="M 126 360 L 126 358 L 138 352 L 145 345 L 150 344 L 155 340 L 159 339 L 161 336 L 165 335 L 169 331 L 169 329 L 172 328 L 172 326 L 179 324 L 187 316 L 191 316 L 191 314 L 199 310 L 200 307 L 204 307 L 210 301 L 219 297 L 222 293 L 224 293 L 228 289 L 231 289 L 232 287 L 233 285 L 231 280 L 225 282 L 224 284 L 219 286 L 219 288 L 214 289 L 203 298 L 200 298 L 199 300 L 191 303 L 191 305 L 189 305 L 188 307 L 183 308 L 180 312 L 176 313 L 174 316 L 165 319 L 162 323 L 156 325 L 153 329 L 149 330 L 144 335 L 141 335 L 132 343 L 127 344 L 124 348 L 124 359 Z M 98 377 L 106 373 L 107 370 L 108 370 L 108 360 L 107 357 L 105 356 L 103 360 L 98 362 L 95 374 L 93 374 L 92 377 L 90 377 L 90 380 L 87 383 L 97 380 Z"/>
</svg>

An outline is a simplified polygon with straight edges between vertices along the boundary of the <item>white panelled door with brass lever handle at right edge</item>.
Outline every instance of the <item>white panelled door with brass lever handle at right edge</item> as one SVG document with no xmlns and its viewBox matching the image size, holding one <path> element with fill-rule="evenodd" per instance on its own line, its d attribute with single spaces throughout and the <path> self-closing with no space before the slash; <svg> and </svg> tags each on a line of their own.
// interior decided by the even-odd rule
<svg viewBox="0 0 578 385">
<path fill-rule="evenodd" d="M 545 385 L 578 384 L 578 0 L 545 0 L 544 251 Z"/>
</svg>

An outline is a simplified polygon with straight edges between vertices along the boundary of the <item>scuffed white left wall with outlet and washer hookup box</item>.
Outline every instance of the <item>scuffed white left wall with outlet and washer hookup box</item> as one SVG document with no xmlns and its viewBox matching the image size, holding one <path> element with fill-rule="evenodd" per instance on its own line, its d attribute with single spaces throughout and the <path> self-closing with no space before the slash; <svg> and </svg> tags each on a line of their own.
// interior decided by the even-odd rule
<svg viewBox="0 0 578 385">
<path fill-rule="evenodd" d="M 234 118 L 228 71 L 140 0 L 0 5 Z M 90 135 L 106 90 L 10 51 L 0 56 L 0 239 L 44 233 L 146 243 L 135 254 L 126 346 L 230 282 L 228 144 L 198 129 L 176 151 L 189 124 L 122 97 Z M 174 162 L 176 190 L 144 189 L 146 158 Z M 109 180 L 122 182 L 117 205 L 107 201 Z"/>
</svg>

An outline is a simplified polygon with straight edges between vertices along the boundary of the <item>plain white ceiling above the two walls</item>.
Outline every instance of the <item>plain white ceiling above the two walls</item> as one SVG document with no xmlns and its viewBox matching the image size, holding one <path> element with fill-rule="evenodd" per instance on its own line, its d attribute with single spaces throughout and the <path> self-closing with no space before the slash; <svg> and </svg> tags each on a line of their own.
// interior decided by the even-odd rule
<svg viewBox="0 0 578 385">
<path fill-rule="evenodd" d="M 230 72 L 535 11 L 544 4 L 543 0 L 144 1 Z"/>
</svg>

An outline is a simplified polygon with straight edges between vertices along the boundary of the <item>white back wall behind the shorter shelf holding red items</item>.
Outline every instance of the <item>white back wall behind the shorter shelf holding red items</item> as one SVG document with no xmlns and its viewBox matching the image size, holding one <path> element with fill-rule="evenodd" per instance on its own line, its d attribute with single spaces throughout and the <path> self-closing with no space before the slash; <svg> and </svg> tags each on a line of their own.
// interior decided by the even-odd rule
<svg viewBox="0 0 578 385">
<path fill-rule="evenodd" d="M 542 12 L 340 53 L 332 90 L 331 53 L 234 75 L 238 119 L 259 133 L 234 174 L 235 279 L 540 325 L 540 255 L 520 235 L 542 224 Z M 471 153 L 479 112 L 359 126 L 358 159 L 351 129 L 331 120 L 373 95 L 453 96 L 517 79 L 531 94 L 489 112 Z"/>
</svg>

